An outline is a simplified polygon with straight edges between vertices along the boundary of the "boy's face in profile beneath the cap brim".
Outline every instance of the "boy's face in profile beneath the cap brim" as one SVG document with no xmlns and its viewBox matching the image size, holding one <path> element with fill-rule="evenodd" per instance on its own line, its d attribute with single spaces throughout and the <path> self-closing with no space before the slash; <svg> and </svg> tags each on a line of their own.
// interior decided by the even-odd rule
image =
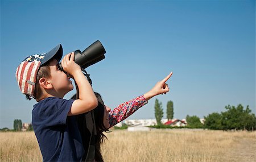
<svg viewBox="0 0 256 162">
<path fill-rule="evenodd" d="M 50 81 L 53 89 L 55 89 L 59 97 L 62 98 L 73 89 L 72 81 L 69 80 L 70 77 L 68 77 L 67 74 L 59 69 L 59 63 L 56 59 L 50 61 L 49 68 L 51 70 Z"/>
</svg>

